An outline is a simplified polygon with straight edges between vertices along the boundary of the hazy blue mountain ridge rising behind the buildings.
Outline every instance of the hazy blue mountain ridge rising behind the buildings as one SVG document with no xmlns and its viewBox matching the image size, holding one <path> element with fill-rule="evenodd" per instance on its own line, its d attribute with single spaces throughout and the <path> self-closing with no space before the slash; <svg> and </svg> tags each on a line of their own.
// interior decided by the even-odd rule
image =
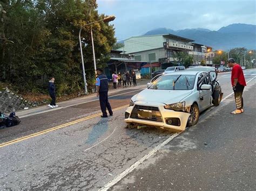
<svg viewBox="0 0 256 191">
<path fill-rule="evenodd" d="M 256 49 L 256 25 L 231 24 L 220 28 L 218 31 L 208 29 L 183 29 L 172 30 L 159 28 L 148 31 L 145 35 L 161 35 L 171 33 L 195 40 L 196 43 L 212 46 L 213 49 L 228 50 L 234 47 Z"/>
</svg>

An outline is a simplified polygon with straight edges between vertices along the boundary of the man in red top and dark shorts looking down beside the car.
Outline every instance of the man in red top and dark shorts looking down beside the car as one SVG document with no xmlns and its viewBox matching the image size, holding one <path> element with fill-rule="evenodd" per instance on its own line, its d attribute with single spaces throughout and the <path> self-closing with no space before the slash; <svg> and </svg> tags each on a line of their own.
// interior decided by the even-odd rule
<svg viewBox="0 0 256 191">
<path fill-rule="evenodd" d="M 244 112 L 244 99 L 242 99 L 242 92 L 246 86 L 244 72 L 239 64 L 235 63 L 233 58 L 228 59 L 228 67 L 232 67 L 231 84 L 234 91 L 235 104 L 237 110 L 231 112 L 231 114 L 240 114 Z"/>
</svg>

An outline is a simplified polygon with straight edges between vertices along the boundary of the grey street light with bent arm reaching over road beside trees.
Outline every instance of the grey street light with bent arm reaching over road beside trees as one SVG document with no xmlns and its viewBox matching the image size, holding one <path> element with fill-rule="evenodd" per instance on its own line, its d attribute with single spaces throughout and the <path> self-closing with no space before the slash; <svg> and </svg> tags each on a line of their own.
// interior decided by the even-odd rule
<svg viewBox="0 0 256 191">
<path fill-rule="evenodd" d="M 82 59 L 82 67 L 83 67 L 83 77 L 84 77 L 84 93 L 87 94 L 87 84 L 86 84 L 86 73 L 85 73 L 85 69 L 84 69 L 84 56 L 83 56 L 83 49 L 82 49 L 82 42 L 81 42 L 81 31 L 82 29 L 87 26 L 87 25 L 91 25 L 91 24 L 94 24 L 94 23 L 98 23 L 98 22 L 101 22 L 103 21 L 104 23 L 107 23 L 107 22 L 110 22 L 110 21 L 113 21 L 116 17 L 114 17 L 113 15 L 112 16 L 107 16 L 103 19 L 100 19 L 99 21 L 95 21 L 95 22 L 92 22 L 92 23 L 87 23 L 83 26 L 80 27 L 80 30 L 79 30 L 79 44 L 80 44 L 80 52 L 81 52 L 81 59 Z"/>
</svg>

